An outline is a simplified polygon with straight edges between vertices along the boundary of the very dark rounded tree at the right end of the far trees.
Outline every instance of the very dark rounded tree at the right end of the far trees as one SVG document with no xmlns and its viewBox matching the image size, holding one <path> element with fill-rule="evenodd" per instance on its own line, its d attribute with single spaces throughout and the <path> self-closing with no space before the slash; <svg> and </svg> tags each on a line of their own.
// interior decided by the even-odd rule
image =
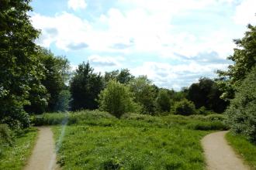
<svg viewBox="0 0 256 170">
<path fill-rule="evenodd" d="M 188 90 L 188 98 L 195 104 L 195 108 L 206 107 L 207 110 L 214 110 L 222 113 L 227 102 L 220 99 L 220 89 L 216 83 L 209 78 L 200 78 L 199 83 L 192 83 Z"/>
</svg>

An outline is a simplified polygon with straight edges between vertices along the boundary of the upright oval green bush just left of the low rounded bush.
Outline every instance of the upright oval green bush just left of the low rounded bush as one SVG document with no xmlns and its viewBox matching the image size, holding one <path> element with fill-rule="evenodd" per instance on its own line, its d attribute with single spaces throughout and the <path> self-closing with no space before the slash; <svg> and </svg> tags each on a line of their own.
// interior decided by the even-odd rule
<svg viewBox="0 0 256 170">
<path fill-rule="evenodd" d="M 156 99 L 157 109 L 161 112 L 168 112 L 171 108 L 171 100 L 168 95 L 168 90 L 159 90 Z"/>
</svg>

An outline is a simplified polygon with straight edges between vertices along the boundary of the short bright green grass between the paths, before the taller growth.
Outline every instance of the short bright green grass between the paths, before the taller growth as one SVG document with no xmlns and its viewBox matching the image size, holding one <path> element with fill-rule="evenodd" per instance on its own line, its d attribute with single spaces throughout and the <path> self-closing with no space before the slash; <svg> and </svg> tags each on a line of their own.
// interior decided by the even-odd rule
<svg viewBox="0 0 256 170">
<path fill-rule="evenodd" d="M 56 138 L 61 127 L 54 128 Z M 202 169 L 204 131 L 67 126 L 58 152 L 64 169 Z M 116 167 L 116 168 L 113 168 Z"/>
</svg>

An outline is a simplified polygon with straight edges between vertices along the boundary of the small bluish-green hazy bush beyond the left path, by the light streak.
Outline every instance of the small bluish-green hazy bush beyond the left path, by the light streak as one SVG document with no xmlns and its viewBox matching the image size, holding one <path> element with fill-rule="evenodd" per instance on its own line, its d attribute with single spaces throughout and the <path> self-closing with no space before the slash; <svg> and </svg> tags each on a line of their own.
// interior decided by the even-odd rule
<svg viewBox="0 0 256 170">
<path fill-rule="evenodd" d="M 69 104 L 71 100 L 71 93 L 69 90 L 62 90 L 57 97 L 57 104 L 55 110 L 65 111 L 69 110 Z"/>
</svg>

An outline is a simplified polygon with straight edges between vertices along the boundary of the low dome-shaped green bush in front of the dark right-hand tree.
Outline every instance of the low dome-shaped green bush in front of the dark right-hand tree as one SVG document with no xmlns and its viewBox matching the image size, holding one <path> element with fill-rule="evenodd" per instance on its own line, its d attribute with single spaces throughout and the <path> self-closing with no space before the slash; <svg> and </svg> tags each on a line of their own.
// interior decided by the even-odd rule
<svg viewBox="0 0 256 170">
<path fill-rule="evenodd" d="M 186 99 L 178 101 L 174 107 L 174 114 L 182 114 L 185 116 L 195 114 L 195 105 L 192 101 Z"/>
</svg>

